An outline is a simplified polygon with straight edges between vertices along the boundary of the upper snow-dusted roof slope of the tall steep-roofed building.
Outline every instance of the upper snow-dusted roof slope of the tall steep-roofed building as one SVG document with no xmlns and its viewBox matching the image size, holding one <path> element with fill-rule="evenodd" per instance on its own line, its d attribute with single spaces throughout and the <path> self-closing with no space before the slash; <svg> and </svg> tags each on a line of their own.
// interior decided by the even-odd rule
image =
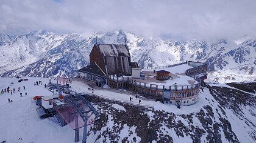
<svg viewBox="0 0 256 143">
<path fill-rule="evenodd" d="M 104 56 L 127 56 L 130 57 L 127 45 L 118 44 L 97 44 L 100 52 Z"/>
</svg>

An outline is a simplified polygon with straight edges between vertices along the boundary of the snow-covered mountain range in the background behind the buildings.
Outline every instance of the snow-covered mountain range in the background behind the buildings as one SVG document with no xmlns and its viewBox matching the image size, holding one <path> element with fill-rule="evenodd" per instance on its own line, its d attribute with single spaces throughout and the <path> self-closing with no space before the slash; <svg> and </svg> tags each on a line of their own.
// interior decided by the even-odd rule
<svg viewBox="0 0 256 143">
<path fill-rule="evenodd" d="M 1 76 L 57 75 L 59 71 L 75 76 L 77 69 L 89 64 L 91 48 L 98 44 L 124 44 L 130 48 L 132 61 L 143 66 L 171 65 L 182 61 L 208 63 L 210 80 L 241 82 L 256 80 L 256 40 L 244 36 L 236 41 L 219 39 L 164 41 L 134 33 L 98 32 L 58 35 L 48 30 L 27 35 L 0 35 Z"/>
</svg>

